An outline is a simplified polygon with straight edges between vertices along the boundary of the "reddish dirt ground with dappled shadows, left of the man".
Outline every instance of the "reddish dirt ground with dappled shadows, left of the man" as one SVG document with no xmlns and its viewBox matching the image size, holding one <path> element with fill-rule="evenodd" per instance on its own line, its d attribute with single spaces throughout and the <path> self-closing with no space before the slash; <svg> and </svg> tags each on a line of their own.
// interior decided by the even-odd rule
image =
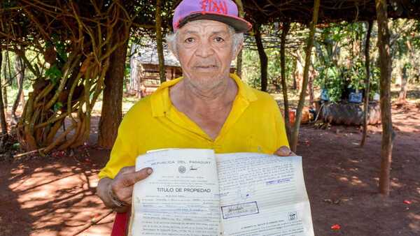
<svg viewBox="0 0 420 236">
<path fill-rule="evenodd" d="M 82 147 L 69 153 L 3 165 L 0 235 L 72 235 L 107 212 L 95 188 L 109 152 Z M 112 220 L 110 215 L 83 235 L 109 235 Z"/>
</svg>

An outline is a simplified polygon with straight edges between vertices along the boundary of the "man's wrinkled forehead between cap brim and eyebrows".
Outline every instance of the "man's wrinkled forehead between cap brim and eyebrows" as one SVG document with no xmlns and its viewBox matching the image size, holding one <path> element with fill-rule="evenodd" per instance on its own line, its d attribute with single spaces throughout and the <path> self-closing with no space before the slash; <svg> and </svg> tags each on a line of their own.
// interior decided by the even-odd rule
<svg viewBox="0 0 420 236">
<path fill-rule="evenodd" d="M 181 29 L 179 34 L 214 34 L 215 32 L 221 34 L 229 34 L 229 26 L 223 22 L 215 20 L 194 20 L 188 22 Z"/>
</svg>

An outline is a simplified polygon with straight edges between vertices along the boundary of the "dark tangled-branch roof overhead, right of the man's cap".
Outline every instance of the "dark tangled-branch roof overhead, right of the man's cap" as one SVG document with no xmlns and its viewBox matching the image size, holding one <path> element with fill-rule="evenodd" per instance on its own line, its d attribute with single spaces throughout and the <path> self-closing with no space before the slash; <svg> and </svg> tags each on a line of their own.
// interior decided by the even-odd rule
<svg viewBox="0 0 420 236">
<path fill-rule="evenodd" d="M 242 0 L 253 23 L 311 21 L 314 0 Z M 388 0 L 388 17 L 420 19 L 420 0 Z M 319 23 L 376 20 L 374 0 L 321 0 Z"/>
</svg>

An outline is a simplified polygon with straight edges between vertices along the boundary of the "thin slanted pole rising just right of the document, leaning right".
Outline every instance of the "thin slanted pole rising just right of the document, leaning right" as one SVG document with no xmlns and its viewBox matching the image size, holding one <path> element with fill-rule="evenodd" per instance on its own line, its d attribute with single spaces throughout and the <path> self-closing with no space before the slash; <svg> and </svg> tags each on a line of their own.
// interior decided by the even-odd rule
<svg viewBox="0 0 420 236">
<path fill-rule="evenodd" d="M 296 149 L 297 149 L 297 140 L 299 138 L 300 121 L 302 120 L 304 98 L 305 98 L 306 90 L 308 87 L 309 66 L 311 66 L 311 50 L 312 50 L 312 46 L 314 45 L 316 22 L 318 22 L 319 2 L 320 0 L 314 1 L 314 11 L 312 13 L 312 21 L 310 24 L 309 38 L 308 38 L 307 47 L 305 50 L 306 55 L 305 55 L 305 60 L 304 60 L 302 89 L 300 90 L 299 103 L 296 109 L 295 126 L 293 126 L 293 133 L 292 133 L 291 145 L 290 145 L 293 152 L 296 152 Z"/>
</svg>

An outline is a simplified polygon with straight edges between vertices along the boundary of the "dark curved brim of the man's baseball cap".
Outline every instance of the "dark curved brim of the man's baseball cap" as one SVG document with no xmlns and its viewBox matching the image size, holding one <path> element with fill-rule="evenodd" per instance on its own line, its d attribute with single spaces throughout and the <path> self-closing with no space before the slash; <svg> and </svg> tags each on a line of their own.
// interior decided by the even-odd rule
<svg viewBox="0 0 420 236">
<path fill-rule="evenodd" d="M 184 17 L 179 22 L 179 28 L 193 20 L 215 20 L 230 25 L 237 33 L 245 33 L 252 28 L 252 24 L 240 17 L 224 15 L 220 13 L 197 12 Z"/>
</svg>

